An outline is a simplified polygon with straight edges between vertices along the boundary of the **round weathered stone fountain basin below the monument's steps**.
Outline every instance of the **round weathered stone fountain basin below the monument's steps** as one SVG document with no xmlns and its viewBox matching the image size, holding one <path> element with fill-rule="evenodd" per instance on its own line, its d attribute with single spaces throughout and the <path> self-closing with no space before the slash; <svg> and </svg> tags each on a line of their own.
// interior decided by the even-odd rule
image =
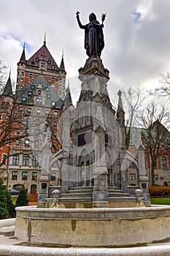
<svg viewBox="0 0 170 256">
<path fill-rule="evenodd" d="M 18 207 L 15 236 L 51 246 L 138 246 L 170 238 L 170 206 Z"/>
</svg>

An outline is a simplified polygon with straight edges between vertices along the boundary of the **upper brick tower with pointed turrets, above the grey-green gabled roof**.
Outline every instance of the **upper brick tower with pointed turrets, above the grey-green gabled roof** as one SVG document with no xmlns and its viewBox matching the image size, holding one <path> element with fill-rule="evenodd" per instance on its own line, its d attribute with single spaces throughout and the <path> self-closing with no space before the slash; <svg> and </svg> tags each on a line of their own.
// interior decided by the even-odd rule
<svg viewBox="0 0 170 256">
<path fill-rule="evenodd" d="M 61 66 L 58 67 L 53 56 L 47 48 L 46 41 L 39 50 L 26 60 L 25 45 L 23 53 L 18 62 L 17 90 L 22 89 L 38 75 L 44 75 L 48 83 L 55 89 L 55 92 L 64 99 L 66 70 L 64 67 L 63 56 Z"/>
</svg>

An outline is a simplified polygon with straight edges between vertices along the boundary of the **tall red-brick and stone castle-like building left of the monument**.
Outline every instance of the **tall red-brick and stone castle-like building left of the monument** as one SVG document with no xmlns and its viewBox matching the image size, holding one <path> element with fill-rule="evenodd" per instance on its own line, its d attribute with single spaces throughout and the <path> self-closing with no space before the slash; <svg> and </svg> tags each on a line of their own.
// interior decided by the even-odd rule
<svg viewBox="0 0 170 256">
<path fill-rule="evenodd" d="M 10 123 L 12 125 L 7 143 L 2 143 L 0 148 L 0 175 L 8 189 L 20 189 L 24 186 L 29 193 L 39 192 L 42 145 L 47 127 L 52 131 L 51 151 L 58 151 L 61 147 L 58 120 L 64 103 L 65 80 L 63 56 L 58 67 L 46 42 L 28 61 L 25 47 L 23 48 L 18 62 L 16 91 L 12 92 L 9 76 L 0 99 L 1 140 L 3 129 L 9 129 Z M 49 175 L 50 184 L 58 184 L 57 165 L 53 165 Z"/>
</svg>

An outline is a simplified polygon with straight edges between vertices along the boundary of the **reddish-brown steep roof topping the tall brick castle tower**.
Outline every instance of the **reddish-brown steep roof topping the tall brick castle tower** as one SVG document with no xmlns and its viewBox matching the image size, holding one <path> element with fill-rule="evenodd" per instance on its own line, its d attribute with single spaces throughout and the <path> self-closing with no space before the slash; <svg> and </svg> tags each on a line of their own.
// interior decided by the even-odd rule
<svg viewBox="0 0 170 256">
<path fill-rule="evenodd" d="M 39 50 L 37 50 L 36 53 L 34 53 L 34 55 L 31 56 L 30 59 L 28 59 L 28 61 L 26 61 L 27 65 L 39 67 L 39 59 L 42 59 L 42 56 L 45 56 L 46 58 L 47 69 L 53 69 L 55 71 L 58 71 L 58 65 L 56 64 L 55 60 L 53 59 L 53 56 L 48 50 L 46 42 L 44 42 L 44 45 L 42 45 L 42 47 L 39 48 Z"/>
</svg>

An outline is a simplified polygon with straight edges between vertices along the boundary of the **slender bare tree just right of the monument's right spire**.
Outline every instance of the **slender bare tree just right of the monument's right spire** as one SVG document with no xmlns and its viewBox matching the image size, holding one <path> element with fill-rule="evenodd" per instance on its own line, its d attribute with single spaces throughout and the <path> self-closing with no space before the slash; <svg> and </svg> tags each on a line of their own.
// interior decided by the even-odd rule
<svg viewBox="0 0 170 256">
<path fill-rule="evenodd" d="M 123 90 L 125 111 L 125 147 L 128 149 L 131 140 L 131 129 L 136 126 L 136 118 L 139 108 L 144 102 L 144 89 L 140 86 L 129 87 L 128 90 Z"/>
</svg>

